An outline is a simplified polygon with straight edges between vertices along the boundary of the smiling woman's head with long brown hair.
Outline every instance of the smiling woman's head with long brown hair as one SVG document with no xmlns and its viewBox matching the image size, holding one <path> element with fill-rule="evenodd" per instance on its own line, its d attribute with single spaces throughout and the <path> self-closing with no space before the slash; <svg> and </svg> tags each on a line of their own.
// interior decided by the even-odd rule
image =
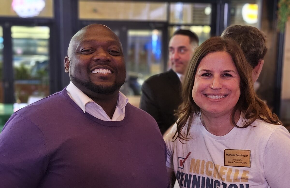
<svg viewBox="0 0 290 188">
<path fill-rule="evenodd" d="M 212 37 L 197 47 L 184 79 L 178 137 L 187 138 L 193 117 L 199 113 L 229 115 L 237 126 L 235 120 L 241 112 L 248 119 L 244 128 L 257 118 L 278 124 L 278 117 L 253 89 L 252 71 L 242 49 L 233 40 Z M 182 131 L 186 124 L 187 130 Z"/>
</svg>

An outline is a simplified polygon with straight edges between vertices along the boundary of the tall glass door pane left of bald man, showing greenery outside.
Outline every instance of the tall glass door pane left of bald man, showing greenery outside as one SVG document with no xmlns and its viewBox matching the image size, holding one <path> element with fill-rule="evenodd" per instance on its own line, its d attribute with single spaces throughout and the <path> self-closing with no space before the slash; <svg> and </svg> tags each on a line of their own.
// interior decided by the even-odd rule
<svg viewBox="0 0 290 188">
<path fill-rule="evenodd" d="M 14 95 L 31 104 L 49 95 L 49 27 L 11 27 Z"/>
</svg>

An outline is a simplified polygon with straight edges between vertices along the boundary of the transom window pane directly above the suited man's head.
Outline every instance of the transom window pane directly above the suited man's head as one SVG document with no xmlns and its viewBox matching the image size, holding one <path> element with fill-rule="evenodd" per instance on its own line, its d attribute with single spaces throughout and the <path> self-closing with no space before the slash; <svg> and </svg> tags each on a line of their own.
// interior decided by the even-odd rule
<svg viewBox="0 0 290 188">
<path fill-rule="evenodd" d="M 210 25 L 211 4 L 207 3 L 170 3 L 170 23 Z"/>
</svg>

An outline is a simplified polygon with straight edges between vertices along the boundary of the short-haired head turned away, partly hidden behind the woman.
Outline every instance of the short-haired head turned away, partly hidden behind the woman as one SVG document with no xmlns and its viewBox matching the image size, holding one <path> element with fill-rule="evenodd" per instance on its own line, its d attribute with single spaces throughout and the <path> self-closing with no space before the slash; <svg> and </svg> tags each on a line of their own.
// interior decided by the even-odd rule
<svg viewBox="0 0 290 188">
<path fill-rule="evenodd" d="M 267 52 L 264 33 L 256 27 L 233 25 L 227 27 L 221 37 L 235 40 L 240 45 L 247 61 L 253 67 L 252 80 L 255 82 L 261 73 Z"/>
</svg>

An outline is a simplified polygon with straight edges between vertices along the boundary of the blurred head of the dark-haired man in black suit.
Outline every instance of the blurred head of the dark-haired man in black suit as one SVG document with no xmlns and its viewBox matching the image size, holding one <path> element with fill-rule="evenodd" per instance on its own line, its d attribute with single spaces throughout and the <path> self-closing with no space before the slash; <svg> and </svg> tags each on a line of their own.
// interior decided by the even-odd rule
<svg viewBox="0 0 290 188">
<path fill-rule="evenodd" d="M 169 41 L 169 62 L 176 73 L 184 75 L 195 49 L 198 47 L 198 37 L 189 30 L 177 30 Z"/>
</svg>

